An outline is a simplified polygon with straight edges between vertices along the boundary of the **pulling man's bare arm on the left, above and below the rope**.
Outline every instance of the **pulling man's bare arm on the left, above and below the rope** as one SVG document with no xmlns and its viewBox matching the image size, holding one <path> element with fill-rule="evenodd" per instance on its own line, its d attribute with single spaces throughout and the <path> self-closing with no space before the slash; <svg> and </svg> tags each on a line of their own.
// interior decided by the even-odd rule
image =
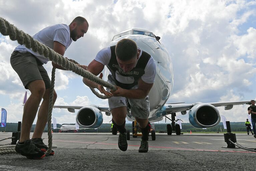
<svg viewBox="0 0 256 171">
<path fill-rule="evenodd" d="M 94 75 L 99 75 L 101 71 L 104 69 L 104 65 L 93 59 L 91 63 L 87 67 L 87 71 L 91 72 Z M 83 83 L 91 88 L 97 88 L 98 84 L 94 83 L 86 78 L 83 78 Z"/>
</svg>

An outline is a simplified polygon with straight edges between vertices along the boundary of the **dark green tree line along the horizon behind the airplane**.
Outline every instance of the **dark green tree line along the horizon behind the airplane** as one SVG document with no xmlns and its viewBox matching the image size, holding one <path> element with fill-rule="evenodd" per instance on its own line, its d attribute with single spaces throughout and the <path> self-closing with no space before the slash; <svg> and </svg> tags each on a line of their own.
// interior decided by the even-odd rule
<svg viewBox="0 0 256 171">
<path fill-rule="evenodd" d="M 64 125 L 64 124 L 62 124 Z M 75 125 L 75 124 L 70 124 Z M 167 124 L 155 124 L 156 132 L 167 132 L 166 126 Z M 57 124 L 57 128 L 60 128 L 60 124 Z M 52 125 L 53 127 L 53 125 Z M 246 126 L 244 122 L 230 122 L 230 127 L 232 132 L 243 132 L 246 131 Z M 6 123 L 6 128 L 0 128 L 1 132 L 16 132 L 18 128 L 18 123 Z M 80 127 L 82 128 L 82 127 Z M 125 128 L 132 132 L 132 124 L 125 124 Z M 31 132 L 34 132 L 35 125 L 32 125 Z M 58 132 L 59 129 L 53 129 L 53 132 Z M 181 132 L 226 132 L 227 130 L 224 129 L 222 122 L 213 128 L 194 128 L 190 123 L 182 123 Z M 45 126 L 44 132 L 47 132 L 47 124 Z M 102 124 L 98 129 L 82 129 L 79 132 L 110 132 L 110 124 Z"/>
</svg>

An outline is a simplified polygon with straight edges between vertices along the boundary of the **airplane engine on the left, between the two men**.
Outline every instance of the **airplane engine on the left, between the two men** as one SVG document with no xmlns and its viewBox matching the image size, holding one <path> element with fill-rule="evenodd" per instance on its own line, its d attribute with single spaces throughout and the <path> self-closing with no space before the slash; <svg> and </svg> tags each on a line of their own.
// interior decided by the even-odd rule
<svg viewBox="0 0 256 171">
<path fill-rule="evenodd" d="M 77 112 L 76 123 L 83 128 L 99 128 L 102 122 L 102 113 L 94 106 L 82 107 Z"/>
</svg>

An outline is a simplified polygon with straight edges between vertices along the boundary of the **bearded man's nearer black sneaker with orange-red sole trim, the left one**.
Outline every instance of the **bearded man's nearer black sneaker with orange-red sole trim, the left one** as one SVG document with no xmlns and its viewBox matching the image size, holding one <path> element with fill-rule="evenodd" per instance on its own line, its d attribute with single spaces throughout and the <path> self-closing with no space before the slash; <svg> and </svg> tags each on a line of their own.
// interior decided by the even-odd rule
<svg viewBox="0 0 256 171">
<path fill-rule="evenodd" d="M 45 153 L 37 148 L 31 139 L 25 140 L 24 144 L 20 144 L 18 141 L 15 146 L 15 151 L 29 159 L 41 159 L 45 157 Z"/>
</svg>

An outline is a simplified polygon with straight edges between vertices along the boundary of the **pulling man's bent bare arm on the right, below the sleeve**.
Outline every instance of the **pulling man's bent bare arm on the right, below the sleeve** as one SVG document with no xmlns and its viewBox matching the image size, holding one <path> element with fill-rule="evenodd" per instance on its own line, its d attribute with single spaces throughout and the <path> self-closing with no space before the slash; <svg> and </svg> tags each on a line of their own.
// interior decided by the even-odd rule
<svg viewBox="0 0 256 171">
<path fill-rule="evenodd" d="M 126 98 L 131 98 L 131 99 L 144 99 L 150 92 L 152 84 L 148 84 L 144 82 L 141 78 L 138 81 L 138 89 L 132 89 L 132 90 L 127 90 L 127 89 L 122 89 L 121 87 L 117 87 L 116 91 L 110 91 L 114 96 L 122 96 Z"/>
</svg>

